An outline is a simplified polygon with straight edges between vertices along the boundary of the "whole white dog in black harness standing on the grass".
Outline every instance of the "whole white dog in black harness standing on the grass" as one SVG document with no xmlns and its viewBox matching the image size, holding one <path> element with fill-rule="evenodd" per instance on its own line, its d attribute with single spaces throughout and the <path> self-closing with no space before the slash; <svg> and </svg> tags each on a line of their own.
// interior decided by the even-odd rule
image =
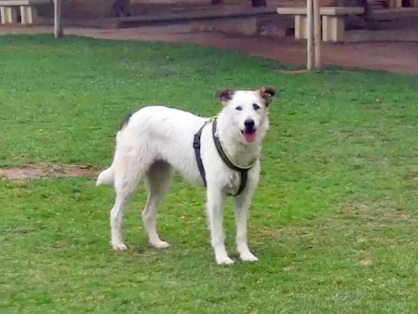
<svg viewBox="0 0 418 314">
<path fill-rule="evenodd" d="M 162 106 L 144 107 L 128 116 L 116 135 L 116 152 L 96 185 L 114 184 L 116 201 L 110 213 L 111 245 L 125 250 L 123 210 L 144 180 L 148 190 L 142 218 L 150 244 L 166 248 L 155 226 L 157 208 L 171 182 L 172 169 L 207 187 L 211 244 L 218 264 L 231 264 L 222 226 L 224 199 L 235 195 L 236 245 L 240 259 L 256 261 L 247 245 L 247 214 L 260 174 L 261 141 L 269 127 L 272 88 L 218 91 L 223 109 L 215 119 Z"/>
</svg>

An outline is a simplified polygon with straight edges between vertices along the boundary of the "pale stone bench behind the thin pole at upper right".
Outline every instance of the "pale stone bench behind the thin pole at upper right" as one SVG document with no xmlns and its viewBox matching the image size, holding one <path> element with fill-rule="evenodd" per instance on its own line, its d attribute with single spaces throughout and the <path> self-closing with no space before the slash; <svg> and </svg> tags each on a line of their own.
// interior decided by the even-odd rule
<svg viewBox="0 0 418 314">
<path fill-rule="evenodd" d="M 363 7 L 357 6 L 322 6 L 319 15 L 322 18 L 322 40 L 339 42 L 344 38 L 346 25 L 344 15 L 364 13 Z M 277 8 L 277 14 L 295 15 L 295 38 L 307 38 L 307 8 Z"/>
</svg>

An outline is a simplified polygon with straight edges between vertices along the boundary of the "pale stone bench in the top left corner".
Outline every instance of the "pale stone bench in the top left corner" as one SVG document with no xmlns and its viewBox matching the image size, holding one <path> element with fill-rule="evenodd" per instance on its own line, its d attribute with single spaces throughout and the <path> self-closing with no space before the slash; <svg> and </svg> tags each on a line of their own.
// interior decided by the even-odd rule
<svg viewBox="0 0 418 314">
<path fill-rule="evenodd" d="M 1 24 L 17 22 L 17 8 L 20 8 L 22 24 L 34 24 L 38 18 L 36 6 L 52 3 L 52 0 L 0 0 Z"/>
</svg>

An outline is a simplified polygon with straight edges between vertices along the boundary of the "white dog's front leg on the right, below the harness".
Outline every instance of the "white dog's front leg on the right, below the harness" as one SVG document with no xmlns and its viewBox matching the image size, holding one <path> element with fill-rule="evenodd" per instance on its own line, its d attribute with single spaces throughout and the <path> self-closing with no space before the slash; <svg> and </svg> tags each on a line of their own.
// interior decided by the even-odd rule
<svg viewBox="0 0 418 314">
<path fill-rule="evenodd" d="M 235 242 L 241 260 L 247 262 L 255 262 L 258 260 L 258 258 L 249 251 L 247 244 L 247 215 L 253 192 L 254 191 L 248 187 L 248 189 L 243 191 L 240 195 L 235 196 L 235 228 L 237 233 Z"/>
</svg>

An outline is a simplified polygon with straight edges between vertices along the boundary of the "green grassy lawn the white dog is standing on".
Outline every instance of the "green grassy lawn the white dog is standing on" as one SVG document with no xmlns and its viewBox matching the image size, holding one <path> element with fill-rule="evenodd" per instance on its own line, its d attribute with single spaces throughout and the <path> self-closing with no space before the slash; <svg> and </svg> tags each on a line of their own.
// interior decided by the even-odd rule
<svg viewBox="0 0 418 314">
<path fill-rule="evenodd" d="M 174 179 L 147 244 L 141 189 L 111 251 L 111 187 L 0 179 L 0 313 L 418 313 L 418 77 L 292 74 L 238 52 L 0 37 L 0 166 L 102 168 L 127 113 L 213 115 L 219 88 L 277 88 L 249 219 L 260 259 L 215 265 L 204 191 Z M 233 246 L 231 201 L 225 213 Z"/>
</svg>

